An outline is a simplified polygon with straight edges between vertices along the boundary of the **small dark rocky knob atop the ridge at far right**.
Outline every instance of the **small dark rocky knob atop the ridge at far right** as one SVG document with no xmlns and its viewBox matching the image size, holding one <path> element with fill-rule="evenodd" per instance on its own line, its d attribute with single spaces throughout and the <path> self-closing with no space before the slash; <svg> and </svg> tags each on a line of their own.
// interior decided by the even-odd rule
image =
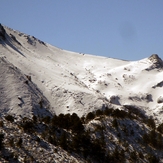
<svg viewBox="0 0 163 163">
<path fill-rule="evenodd" d="M 152 54 L 149 60 L 153 62 L 152 68 L 163 68 L 163 61 L 157 54 Z"/>
</svg>

